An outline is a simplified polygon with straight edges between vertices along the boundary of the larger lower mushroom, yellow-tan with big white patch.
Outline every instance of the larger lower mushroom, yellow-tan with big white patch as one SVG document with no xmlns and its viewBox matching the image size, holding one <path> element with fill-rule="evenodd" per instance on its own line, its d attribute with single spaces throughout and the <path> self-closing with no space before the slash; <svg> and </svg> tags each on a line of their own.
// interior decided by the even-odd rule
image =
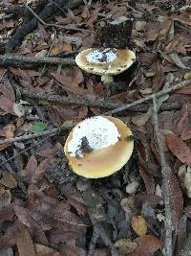
<svg viewBox="0 0 191 256">
<path fill-rule="evenodd" d="M 111 116 L 87 118 L 70 132 L 64 152 L 74 173 L 89 178 L 113 175 L 129 160 L 132 131 Z"/>
</svg>

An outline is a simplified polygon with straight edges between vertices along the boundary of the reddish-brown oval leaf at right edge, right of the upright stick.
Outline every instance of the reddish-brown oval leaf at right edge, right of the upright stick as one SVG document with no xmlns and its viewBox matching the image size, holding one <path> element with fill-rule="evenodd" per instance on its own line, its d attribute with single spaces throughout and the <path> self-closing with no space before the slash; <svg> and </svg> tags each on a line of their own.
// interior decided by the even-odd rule
<svg viewBox="0 0 191 256">
<path fill-rule="evenodd" d="M 175 134 L 168 134 L 166 136 L 167 145 L 182 163 L 191 165 L 191 151 L 187 145 Z"/>
</svg>

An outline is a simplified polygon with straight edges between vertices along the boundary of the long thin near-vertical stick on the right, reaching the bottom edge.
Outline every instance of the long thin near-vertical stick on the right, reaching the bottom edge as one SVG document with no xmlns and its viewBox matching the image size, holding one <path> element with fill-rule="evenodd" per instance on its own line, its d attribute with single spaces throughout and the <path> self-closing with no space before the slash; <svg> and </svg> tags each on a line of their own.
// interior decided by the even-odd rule
<svg viewBox="0 0 191 256">
<path fill-rule="evenodd" d="M 165 155 L 161 144 L 160 133 L 159 133 L 159 121 L 158 121 L 158 106 L 156 102 L 156 95 L 153 95 L 153 121 L 155 127 L 155 134 L 159 149 L 159 158 L 161 165 L 162 175 L 162 191 L 165 204 L 165 219 L 166 219 L 166 232 L 165 232 L 165 250 L 166 255 L 173 255 L 173 224 L 172 224 L 172 209 L 170 205 L 170 188 L 169 188 L 169 169 L 165 161 Z"/>
</svg>

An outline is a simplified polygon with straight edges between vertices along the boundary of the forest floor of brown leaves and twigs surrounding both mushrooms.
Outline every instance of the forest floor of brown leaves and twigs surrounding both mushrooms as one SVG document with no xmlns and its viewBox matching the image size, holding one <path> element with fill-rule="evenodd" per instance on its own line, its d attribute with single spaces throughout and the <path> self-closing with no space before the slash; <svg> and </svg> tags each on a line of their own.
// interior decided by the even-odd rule
<svg viewBox="0 0 191 256">
<path fill-rule="evenodd" d="M 91 47 L 136 61 L 106 89 L 75 64 Z M 190 95 L 190 0 L 1 0 L 0 256 L 191 255 Z M 71 128 L 106 114 L 131 128 L 132 157 L 75 175 Z"/>
</svg>

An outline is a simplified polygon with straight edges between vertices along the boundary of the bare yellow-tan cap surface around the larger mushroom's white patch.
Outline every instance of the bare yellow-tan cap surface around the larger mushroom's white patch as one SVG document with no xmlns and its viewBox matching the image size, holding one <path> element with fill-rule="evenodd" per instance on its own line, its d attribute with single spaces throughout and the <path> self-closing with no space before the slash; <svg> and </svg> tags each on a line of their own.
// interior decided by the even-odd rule
<svg viewBox="0 0 191 256">
<path fill-rule="evenodd" d="M 104 118 L 107 118 L 114 123 L 120 135 L 120 138 L 114 145 L 95 151 L 85 152 L 83 157 L 74 157 L 71 156 L 68 151 L 69 142 L 73 139 L 74 128 L 66 140 L 64 152 L 74 173 L 77 175 L 88 178 L 113 175 L 127 163 L 132 155 L 134 141 L 128 139 L 128 137 L 132 135 L 130 128 L 115 117 L 106 116 Z M 80 125 L 80 123 L 78 125 Z"/>
</svg>

